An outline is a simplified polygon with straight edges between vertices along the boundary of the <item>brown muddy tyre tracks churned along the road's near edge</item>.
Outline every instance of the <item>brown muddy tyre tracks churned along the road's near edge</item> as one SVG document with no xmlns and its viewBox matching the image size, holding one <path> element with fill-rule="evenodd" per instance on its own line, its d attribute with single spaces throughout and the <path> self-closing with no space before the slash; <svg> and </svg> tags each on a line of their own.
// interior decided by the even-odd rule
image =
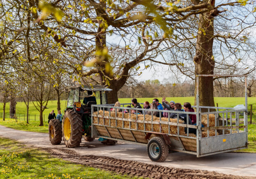
<svg viewBox="0 0 256 179">
<path fill-rule="evenodd" d="M 242 177 L 235 175 L 225 175 L 217 172 L 204 170 L 188 170 L 181 168 L 169 168 L 157 166 L 137 161 L 115 159 L 111 157 L 80 155 L 69 149 L 61 148 L 41 148 L 54 157 L 64 159 L 73 163 L 99 168 L 119 174 L 130 176 L 148 177 L 154 179 L 252 179 L 253 177 Z"/>
</svg>

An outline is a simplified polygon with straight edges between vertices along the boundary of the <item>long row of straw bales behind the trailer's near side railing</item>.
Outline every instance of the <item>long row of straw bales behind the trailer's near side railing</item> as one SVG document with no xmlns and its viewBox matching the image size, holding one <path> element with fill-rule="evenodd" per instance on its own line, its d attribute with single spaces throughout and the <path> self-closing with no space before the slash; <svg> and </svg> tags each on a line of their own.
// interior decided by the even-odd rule
<svg viewBox="0 0 256 179">
<path fill-rule="evenodd" d="M 94 114 L 98 114 L 97 112 L 94 112 Z M 103 116 L 103 111 L 99 111 L 99 115 Z M 109 112 L 105 111 L 104 116 L 109 116 Z M 122 118 L 122 112 L 117 112 L 117 117 Z M 115 117 L 115 112 L 111 113 L 111 117 Z M 133 119 L 136 120 L 136 114 L 131 114 L 129 116 L 129 113 L 124 113 L 124 118 L 121 120 L 115 120 L 115 119 L 110 119 L 110 126 L 112 127 L 118 127 L 122 128 L 124 124 L 124 128 L 130 128 L 129 126 L 131 125 L 131 129 L 136 129 L 136 123 L 135 122 L 130 122 L 128 119 Z M 138 114 L 138 120 L 144 121 L 144 115 L 143 114 Z M 117 122 L 116 122 L 117 121 Z M 145 115 L 145 121 L 152 121 L 152 116 L 151 115 Z M 153 116 L 153 121 L 159 121 L 159 118 L 156 116 Z M 161 121 L 168 121 L 168 118 L 161 118 Z M 93 123 L 97 124 L 97 117 L 93 117 Z M 170 119 L 170 122 L 177 123 L 177 119 Z M 184 121 L 179 120 L 179 123 L 184 123 Z M 103 125 L 104 124 L 104 119 L 99 118 L 99 124 Z M 109 119 L 105 118 L 105 125 L 109 125 Z M 144 123 L 138 123 L 138 130 L 144 130 Z M 152 131 L 152 124 L 145 123 L 145 130 L 146 131 Z M 159 124 L 153 124 L 153 132 L 160 132 L 160 125 Z M 162 133 L 168 133 L 168 125 L 167 124 L 161 124 L 161 132 Z M 170 133 L 171 134 L 177 134 L 178 133 L 178 127 L 175 125 L 170 125 Z M 184 127 L 180 127 L 180 135 L 185 134 Z"/>
</svg>

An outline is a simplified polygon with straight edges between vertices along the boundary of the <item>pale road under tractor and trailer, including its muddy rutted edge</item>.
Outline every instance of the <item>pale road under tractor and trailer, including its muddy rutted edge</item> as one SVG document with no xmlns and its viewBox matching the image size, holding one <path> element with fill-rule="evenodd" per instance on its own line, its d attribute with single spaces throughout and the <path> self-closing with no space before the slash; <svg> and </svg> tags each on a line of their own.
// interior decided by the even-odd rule
<svg viewBox="0 0 256 179">
<path fill-rule="evenodd" d="M 139 145 L 118 143 L 115 146 L 106 146 L 98 141 L 83 141 L 80 148 L 67 149 L 63 143 L 51 145 L 48 134 L 13 130 L 3 126 L 0 126 L 0 136 L 42 148 L 53 156 L 67 161 L 132 176 L 193 179 L 256 178 L 256 154 L 225 153 L 196 158 L 194 155 L 178 152 L 169 154 L 163 163 L 155 163 L 148 159 L 145 147 Z"/>
</svg>

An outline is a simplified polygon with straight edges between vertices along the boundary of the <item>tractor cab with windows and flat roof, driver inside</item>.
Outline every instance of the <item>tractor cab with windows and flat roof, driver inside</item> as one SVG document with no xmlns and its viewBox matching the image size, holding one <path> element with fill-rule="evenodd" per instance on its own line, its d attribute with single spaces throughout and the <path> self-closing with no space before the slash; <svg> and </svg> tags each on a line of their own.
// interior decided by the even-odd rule
<svg viewBox="0 0 256 179">
<path fill-rule="evenodd" d="M 109 91 L 112 89 L 101 85 L 72 87 L 69 89 L 67 109 L 73 109 L 76 113 L 90 113 L 91 105 L 108 103 Z"/>
</svg>

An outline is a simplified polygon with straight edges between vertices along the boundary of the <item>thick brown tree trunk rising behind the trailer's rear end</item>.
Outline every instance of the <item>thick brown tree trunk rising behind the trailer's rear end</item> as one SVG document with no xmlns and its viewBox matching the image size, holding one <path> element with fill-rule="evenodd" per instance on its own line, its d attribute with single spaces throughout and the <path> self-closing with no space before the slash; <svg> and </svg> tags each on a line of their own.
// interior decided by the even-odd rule
<svg viewBox="0 0 256 179">
<path fill-rule="evenodd" d="M 199 15 L 199 27 L 196 43 L 196 55 L 194 56 L 195 74 L 214 74 L 213 46 L 213 17 L 210 13 Z M 197 81 L 196 81 L 197 83 Z M 213 77 L 199 77 L 199 105 L 214 106 Z M 196 87 L 195 87 L 196 105 Z M 202 109 L 206 112 L 208 109 Z"/>
</svg>

